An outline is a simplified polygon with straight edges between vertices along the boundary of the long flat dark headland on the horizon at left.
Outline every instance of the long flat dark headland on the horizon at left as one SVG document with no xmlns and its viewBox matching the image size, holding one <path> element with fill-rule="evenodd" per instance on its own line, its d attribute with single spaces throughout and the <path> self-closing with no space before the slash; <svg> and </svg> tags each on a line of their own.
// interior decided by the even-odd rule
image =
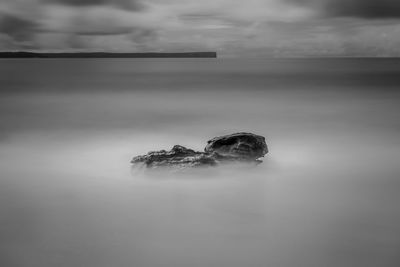
<svg viewBox="0 0 400 267">
<path fill-rule="evenodd" d="M 0 52 L 0 58 L 216 58 L 216 52 L 183 53 L 36 53 L 36 52 Z"/>
</svg>

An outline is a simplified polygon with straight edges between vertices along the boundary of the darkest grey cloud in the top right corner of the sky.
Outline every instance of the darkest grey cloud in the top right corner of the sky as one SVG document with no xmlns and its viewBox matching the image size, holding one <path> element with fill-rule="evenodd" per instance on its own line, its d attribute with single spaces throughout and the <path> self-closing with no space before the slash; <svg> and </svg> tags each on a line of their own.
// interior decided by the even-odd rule
<svg viewBox="0 0 400 267">
<path fill-rule="evenodd" d="M 400 18 L 399 0 L 287 0 L 331 17 Z"/>
</svg>

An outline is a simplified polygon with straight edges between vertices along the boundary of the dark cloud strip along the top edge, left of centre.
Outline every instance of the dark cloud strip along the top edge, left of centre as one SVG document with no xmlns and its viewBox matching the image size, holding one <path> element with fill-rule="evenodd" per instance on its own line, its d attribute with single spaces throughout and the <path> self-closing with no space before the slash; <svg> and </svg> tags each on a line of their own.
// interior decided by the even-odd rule
<svg viewBox="0 0 400 267">
<path fill-rule="evenodd" d="M 139 0 L 44 0 L 47 3 L 58 3 L 67 6 L 101 6 L 112 5 L 129 10 L 142 10 L 145 6 Z"/>
</svg>

